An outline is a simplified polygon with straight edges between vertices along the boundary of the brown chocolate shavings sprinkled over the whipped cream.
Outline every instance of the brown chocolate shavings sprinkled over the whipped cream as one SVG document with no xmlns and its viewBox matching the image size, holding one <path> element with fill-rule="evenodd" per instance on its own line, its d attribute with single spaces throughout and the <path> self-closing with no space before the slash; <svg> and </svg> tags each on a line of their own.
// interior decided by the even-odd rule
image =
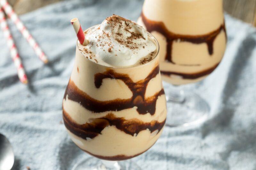
<svg viewBox="0 0 256 170">
<path fill-rule="evenodd" d="M 146 39 L 143 37 L 141 33 L 142 28 L 135 26 L 136 23 L 128 19 L 125 19 L 123 17 L 117 16 L 115 14 L 106 18 L 106 22 L 109 24 L 108 29 L 111 30 L 111 33 L 107 32 L 106 30 L 97 31 L 101 29 L 100 26 L 92 30 L 92 33 L 95 31 L 98 32 L 97 36 L 95 36 L 96 41 L 94 41 L 94 43 L 97 46 L 97 48 L 100 48 L 102 51 L 108 52 L 108 53 L 113 52 L 113 50 L 115 49 L 114 47 L 115 44 L 113 44 L 112 42 L 113 39 L 114 41 L 117 41 L 120 44 L 119 46 L 122 46 L 123 48 L 127 47 L 131 49 L 133 54 L 136 54 L 135 49 L 138 49 L 141 46 L 143 48 L 147 46 L 147 43 L 145 43 L 144 41 Z M 119 29 L 119 30 L 116 31 L 116 29 Z M 141 30 L 138 30 L 138 29 L 141 29 Z M 93 46 L 93 42 L 90 43 L 86 48 L 84 47 L 83 52 L 89 54 L 88 56 L 86 56 L 87 59 L 88 58 L 92 59 L 93 61 L 98 63 L 98 61 L 95 59 L 95 56 L 90 51 L 92 46 Z M 118 49 L 118 51 L 121 51 L 121 50 Z M 150 60 L 152 60 L 152 57 L 146 57 L 139 62 L 140 64 L 144 64 Z"/>
</svg>

